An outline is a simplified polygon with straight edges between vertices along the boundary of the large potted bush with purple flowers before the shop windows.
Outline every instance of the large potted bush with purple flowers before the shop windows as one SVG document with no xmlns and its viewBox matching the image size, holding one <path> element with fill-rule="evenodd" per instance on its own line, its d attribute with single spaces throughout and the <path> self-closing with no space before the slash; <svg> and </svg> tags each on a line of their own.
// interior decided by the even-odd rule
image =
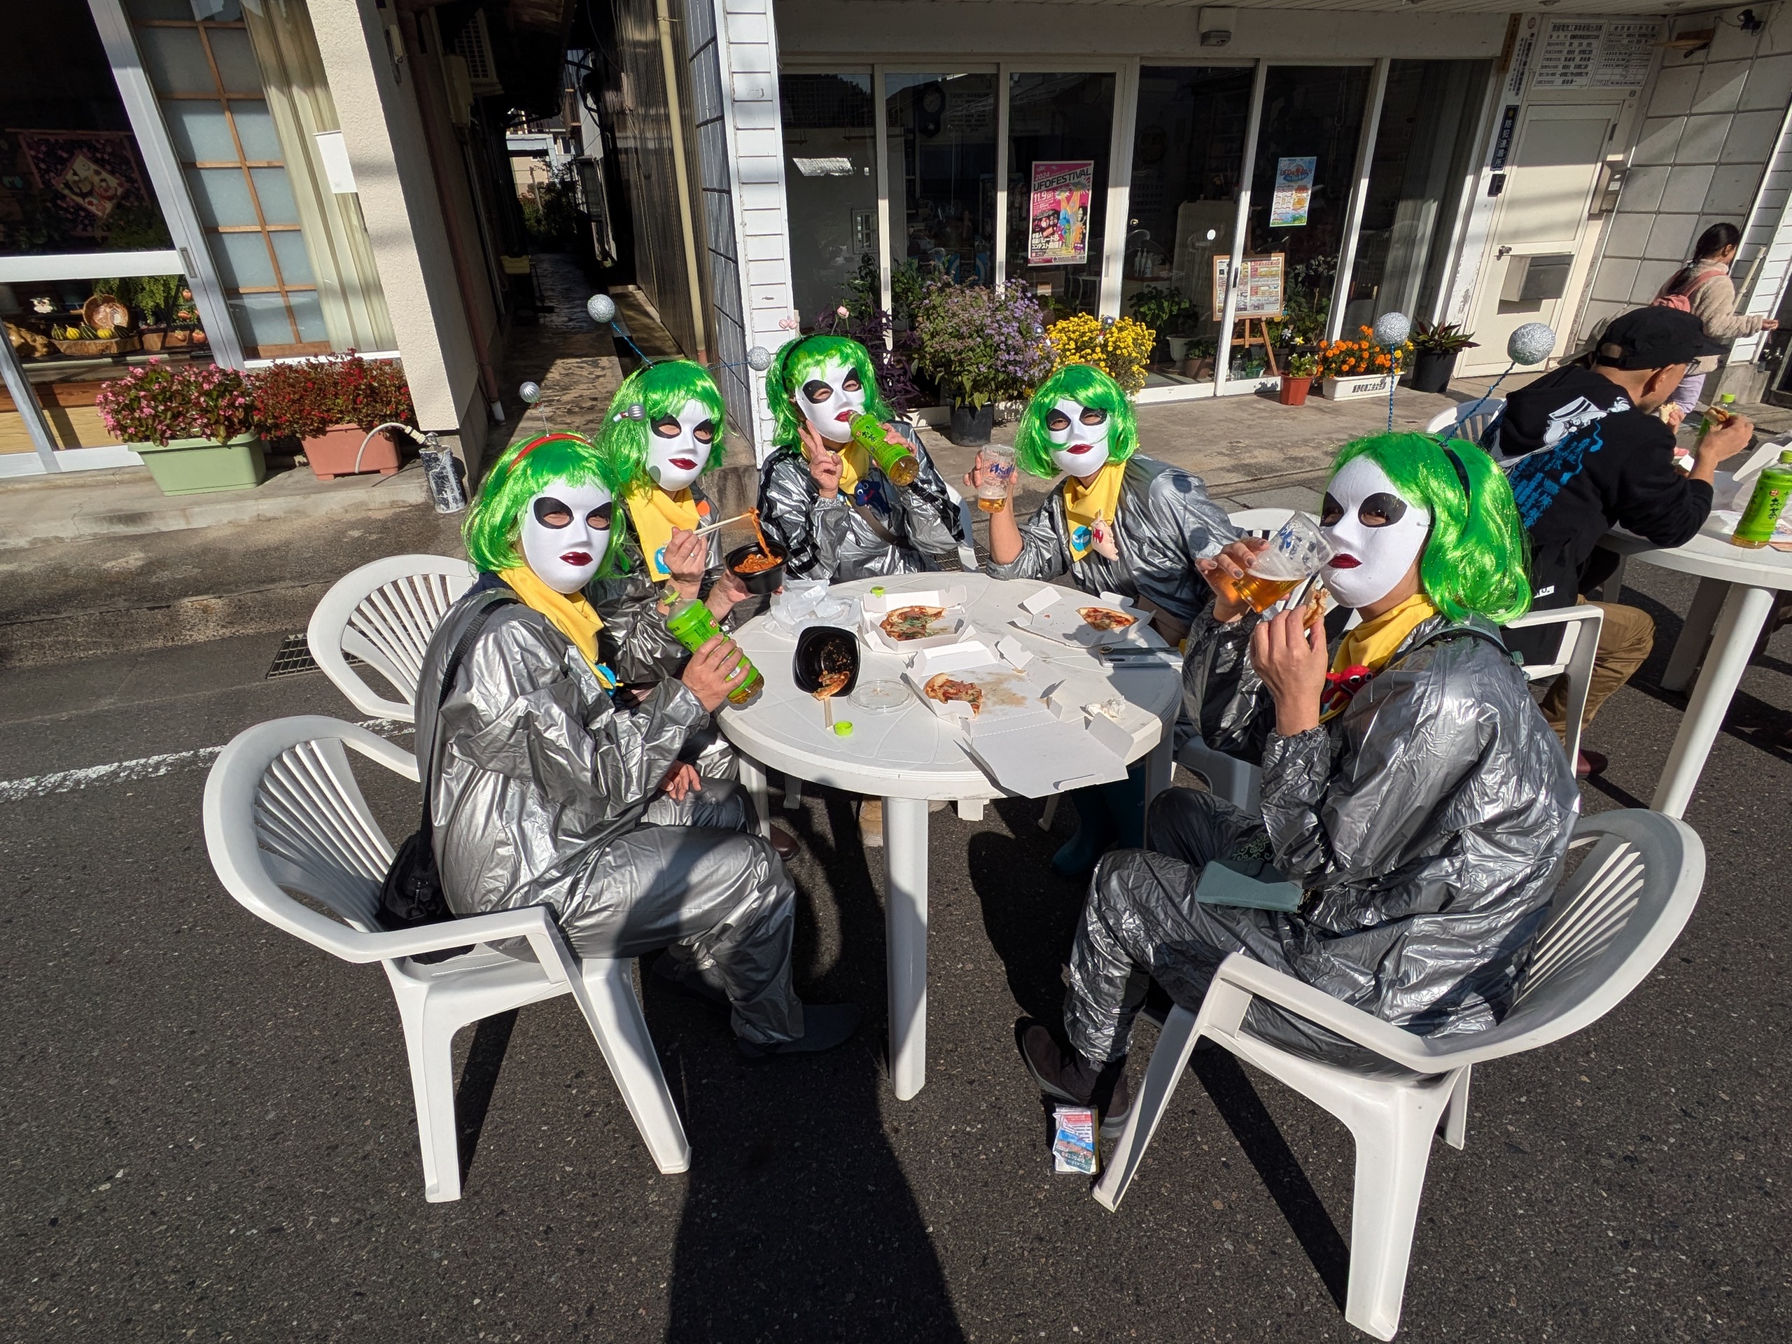
<svg viewBox="0 0 1792 1344">
<path fill-rule="evenodd" d="M 946 437 L 964 448 L 989 443 L 996 401 L 1025 396 L 1047 373 L 1039 303 L 1020 287 L 934 281 L 914 310 L 916 369 L 952 405 Z"/>
</svg>

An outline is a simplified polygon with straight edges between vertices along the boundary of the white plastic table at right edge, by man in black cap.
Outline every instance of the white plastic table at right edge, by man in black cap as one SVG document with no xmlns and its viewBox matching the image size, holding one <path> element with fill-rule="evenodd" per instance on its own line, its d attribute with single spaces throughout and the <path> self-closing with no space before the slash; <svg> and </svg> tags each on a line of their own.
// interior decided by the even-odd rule
<svg viewBox="0 0 1792 1344">
<path fill-rule="evenodd" d="M 1681 719 L 1681 731 L 1649 803 L 1670 817 L 1686 814 L 1704 760 L 1724 728 L 1729 701 L 1754 654 L 1754 642 L 1774 609 L 1774 593 L 1792 590 L 1792 554 L 1736 547 L 1729 541 L 1729 532 L 1726 523 L 1713 518 L 1683 547 L 1650 547 L 1629 532 L 1607 532 L 1598 543 L 1620 556 L 1699 577 L 1699 593 L 1661 676 L 1663 690 L 1681 690 L 1699 665 L 1710 636 L 1711 652 L 1704 658 L 1699 685 L 1686 701 L 1686 717 Z"/>
</svg>

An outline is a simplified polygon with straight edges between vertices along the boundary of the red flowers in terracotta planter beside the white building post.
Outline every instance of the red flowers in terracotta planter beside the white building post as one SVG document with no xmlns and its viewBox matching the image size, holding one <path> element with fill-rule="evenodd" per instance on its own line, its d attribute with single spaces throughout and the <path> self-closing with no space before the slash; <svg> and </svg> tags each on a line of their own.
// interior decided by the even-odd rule
<svg viewBox="0 0 1792 1344">
<path fill-rule="evenodd" d="M 297 439 L 319 480 L 398 470 L 392 432 L 367 439 L 378 425 L 416 425 L 403 373 L 355 351 L 272 364 L 253 376 L 254 414 L 269 437 Z"/>
</svg>

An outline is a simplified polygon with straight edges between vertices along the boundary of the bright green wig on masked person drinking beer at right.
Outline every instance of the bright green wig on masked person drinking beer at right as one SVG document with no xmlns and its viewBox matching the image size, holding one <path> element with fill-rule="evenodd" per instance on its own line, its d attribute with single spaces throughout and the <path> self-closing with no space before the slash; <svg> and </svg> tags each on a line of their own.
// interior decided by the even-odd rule
<svg viewBox="0 0 1792 1344">
<path fill-rule="evenodd" d="M 1331 475 L 1358 457 L 1382 468 L 1401 498 L 1432 516 L 1419 556 L 1419 586 L 1432 606 L 1450 620 L 1473 613 L 1495 625 L 1530 611 L 1525 525 L 1505 473 L 1487 453 L 1466 439 L 1374 434 L 1339 448 Z"/>
</svg>

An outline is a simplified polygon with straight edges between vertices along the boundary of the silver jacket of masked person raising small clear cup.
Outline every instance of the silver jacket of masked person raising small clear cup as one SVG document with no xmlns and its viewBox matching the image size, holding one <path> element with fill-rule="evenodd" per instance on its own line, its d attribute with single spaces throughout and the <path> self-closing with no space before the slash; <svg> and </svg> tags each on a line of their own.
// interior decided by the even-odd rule
<svg viewBox="0 0 1792 1344">
<path fill-rule="evenodd" d="M 1020 529 L 1020 556 L 989 563 L 996 579 L 1050 581 L 1070 573 L 1084 593 L 1120 593 L 1161 607 L 1181 624 L 1213 604 L 1213 590 L 1195 570 L 1195 557 L 1213 556 L 1238 538 L 1226 511 L 1208 498 L 1201 477 L 1134 453 L 1120 478 L 1115 547 L 1120 559 L 1090 552 L 1070 557 L 1064 491 L 1052 487 Z"/>
</svg>

